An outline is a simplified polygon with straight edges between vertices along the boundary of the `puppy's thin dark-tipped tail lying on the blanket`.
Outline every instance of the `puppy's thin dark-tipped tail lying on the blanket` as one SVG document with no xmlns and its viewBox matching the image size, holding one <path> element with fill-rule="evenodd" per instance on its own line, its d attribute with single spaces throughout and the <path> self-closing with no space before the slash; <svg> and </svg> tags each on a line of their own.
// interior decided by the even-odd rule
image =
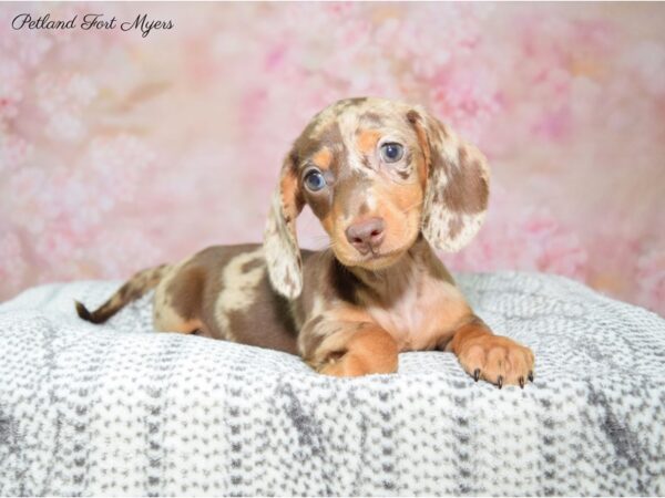
<svg viewBox="0 0 665 498">
<path fill-rule="evenodd" d="M 104 323 L 123 307 L 141 298 L 149 290 L 154 289 L 170 268 L 170 264 L 162 264 L 156 268 L 149 268 L 147 270 L 140 271 L 127 280 L 104 304 L 94 311 L 89 311 L 82 303 L 74 301 L 76 313 L 79 313 L 79 317 L 83 320 L 89 322 Z"/>
</svg>

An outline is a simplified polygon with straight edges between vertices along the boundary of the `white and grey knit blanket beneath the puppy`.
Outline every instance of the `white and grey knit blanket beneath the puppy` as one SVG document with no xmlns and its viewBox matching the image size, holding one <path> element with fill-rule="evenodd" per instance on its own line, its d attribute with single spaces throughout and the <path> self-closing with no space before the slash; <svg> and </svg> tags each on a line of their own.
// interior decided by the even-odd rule
<svg viewBox="0 0 665 498">
<path fill-rule="evenodd" d="M 534 384 L 439 352 L 336 380 L 153 333 L 150 297 L 75 317 L 117 282 L 25 291 L 0 305 L 0 495 L 664 495 L 665 320 L 552 276 L 459 283 Z"/>
</svg>

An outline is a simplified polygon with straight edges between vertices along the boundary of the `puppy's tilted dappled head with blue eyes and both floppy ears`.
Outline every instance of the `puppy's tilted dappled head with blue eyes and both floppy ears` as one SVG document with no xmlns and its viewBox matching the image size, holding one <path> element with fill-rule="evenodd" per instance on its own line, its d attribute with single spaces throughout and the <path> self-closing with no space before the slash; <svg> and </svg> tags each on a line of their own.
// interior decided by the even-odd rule
<svg viewBox="0 0 665 498">
<path fill-rule="evenodd" d="M 296 217 L 307 204 L 337 259 L 395 263 L 419 234 L 456 251 L 478 231 L 489 195 L 482 154 L 423 108 L 382 98 L 339 101 L 317 114 L 284 160 L 265 231 L 270 281 L 299 295 Z"/>
</svg>

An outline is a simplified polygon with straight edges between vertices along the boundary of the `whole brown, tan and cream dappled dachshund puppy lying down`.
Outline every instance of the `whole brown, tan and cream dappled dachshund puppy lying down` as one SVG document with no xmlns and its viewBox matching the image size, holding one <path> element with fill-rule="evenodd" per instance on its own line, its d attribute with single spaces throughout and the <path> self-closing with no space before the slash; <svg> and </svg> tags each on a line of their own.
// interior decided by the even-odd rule
<svg viewBox="0 0 665 498">
<path fill-rule="evenodd" d="M 155 288 L 154 326 L 299 354 L 327 375 L 392 373 L 400 351 L 457 355 L 477 381 L 533 380 L 533 353 L 494 335 L 433 248 L 456 251 L 488 207 L 482 154 L 423 108 L 350 98 L 317 114 L 284 159 L 264 243 L 211 247 L 139 272 L 82 319 Z M 300 250 L 308 205 L 328 250 Z"/>
</svg>

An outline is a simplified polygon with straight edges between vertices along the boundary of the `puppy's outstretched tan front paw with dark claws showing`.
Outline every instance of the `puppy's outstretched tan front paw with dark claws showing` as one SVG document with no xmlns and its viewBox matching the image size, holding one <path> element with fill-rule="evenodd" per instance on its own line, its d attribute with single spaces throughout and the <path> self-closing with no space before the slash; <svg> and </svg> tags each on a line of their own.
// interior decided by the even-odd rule
<svg viewBox="0 0 665 498">
<path fill-rule="evenodd" d="M 468 340 L 458 354 L 462 367 L 478 382 L 524 387 L 533 382 L 534 356 L 529 347 L 501 335 L 481 335 Z"/>
</svg>

